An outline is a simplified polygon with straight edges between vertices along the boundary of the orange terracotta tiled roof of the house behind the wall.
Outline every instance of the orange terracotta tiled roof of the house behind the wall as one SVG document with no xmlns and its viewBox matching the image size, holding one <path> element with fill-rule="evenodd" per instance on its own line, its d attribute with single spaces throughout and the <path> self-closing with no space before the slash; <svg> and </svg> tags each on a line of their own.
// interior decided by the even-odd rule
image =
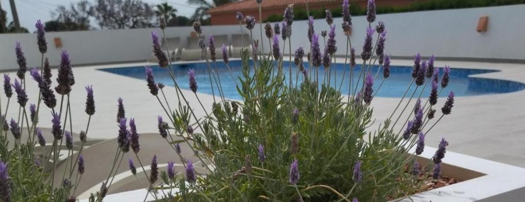
<svg viewBox="0 0 525 202">
<path fill-rule="evenodd" d="M 272 7 L 285 7 L 290 4 L 304 4 L 304 0 L 262 0 L 262 8 L 272 8 Z M 309 0 L 308 4 L 320 4 L 326 2 L 342 2 L 341 0 Z M 258 9 L 259 5 L 255 0 L 243 0 L 239 2 L 229 3 L 222 6 L 218 6 L 212 9 L 209 9 L 207 13 L 223 13 L 223 12 L 237 12 L 244 10 L 254 10 Z"/>
</svg>

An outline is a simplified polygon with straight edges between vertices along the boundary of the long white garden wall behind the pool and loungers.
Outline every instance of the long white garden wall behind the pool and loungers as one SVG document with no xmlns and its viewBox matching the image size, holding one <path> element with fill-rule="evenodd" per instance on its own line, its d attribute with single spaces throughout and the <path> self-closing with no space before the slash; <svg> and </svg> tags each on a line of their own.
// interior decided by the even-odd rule
<svg viewBox="0 0 525 202">
<path fill-rule="evenodd" d="M 435 54 L 441 58 L 463 58 L 478 60 L 525 61 L 525 5 L 436 10 L 377 16 L 385 22 L 388 30 L 386 53 L 393 56 L 409 57 L 417 52 L 423 55 Z M 480 16 L 489 16 L 487 33 L 477 33 L 476 25 Z M 234 16 L 232 16 L 234 17 Z M 36 19 L 35 19 L 36 21 Z M 352 44 L 360 52 L 367 22 L 364 16 L 353 17 Z M 335 19 L 337 41 L 345 41 L 341 34 L 341 18 Z M 254 38 L 259 38 L 258 25 Z M 329 29 L 324 19 L 315 22 L 317 33 Z M 239 34 L 238 26 L 206 26 L 204 35 Z M 153 29 L 96 30 L 47 33 L 49 50 L 47 57 L 51 65 L 58 65 L 59 51 L 53 45 L 53 38 L 60 37 L 64 49 L 70 52 L 74 65 L 90 63 L 145 61 L 151 59 L 151 37 Z M 168 37 L 181 37 L 182 46 L 190 36 L 192 27 L 168 28 Z M 292 51 L 308 47 L 306 21 L 293 23 Z M 28 66 L 40 64 L 36 45 L 36 34 L 0 35 L 0 70 L 15 69 L 15 41 L 21 41 L 28 58 Z M 268 39 L 262 40 L 268 50 Z M 288 48 L 286 48 L 288 49 Z M 308 49 L 308 48 L 305 48 Z M 338 55 L 344 55 L 345 46 L 340 44 Z M 286 52 L 288 54 L 288 51 Z"/>
</svg>

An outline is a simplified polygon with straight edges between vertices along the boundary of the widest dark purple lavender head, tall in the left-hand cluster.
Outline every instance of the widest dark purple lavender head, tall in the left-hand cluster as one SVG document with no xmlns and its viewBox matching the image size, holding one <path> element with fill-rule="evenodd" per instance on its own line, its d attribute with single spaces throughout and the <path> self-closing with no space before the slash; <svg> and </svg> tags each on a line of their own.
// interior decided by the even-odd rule
<svg viewBox="0 0 525 202">
<path fill-rule="evenodd" d="M 66 50 L 62 50 L 60 54 L 57 83 L 58 85 L 55 87 L 55 91 L 61 95 L 69 94 L 69 92 L 71 92 L 71 86 L 75 84 L 75 78 L 71 70 L 71 60 L 69 60 L 69 54 Z"/>
</svg>

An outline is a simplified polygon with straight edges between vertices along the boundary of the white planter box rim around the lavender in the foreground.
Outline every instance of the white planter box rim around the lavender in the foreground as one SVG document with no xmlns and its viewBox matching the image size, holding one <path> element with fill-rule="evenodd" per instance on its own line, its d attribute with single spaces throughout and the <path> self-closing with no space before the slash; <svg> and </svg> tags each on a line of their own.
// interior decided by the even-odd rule
<svg viewBox="0 0 525 202">
<path fill-rule="evenodd" d="M 428 161 L 436 148 L 425 147 L 419 161 Z M 418 193 L 394 201 L 523 201 L 525 198 L 525 169 L 447 152 L 442 163 L 443 175 L 462 182 Z M 142 201 L 145 189 L 106 196 L 104 201 Z M 148 200 L 154 200 L 149 195 Z M 81 201 L 88 201 L 82 199 Z"/>
</svg>

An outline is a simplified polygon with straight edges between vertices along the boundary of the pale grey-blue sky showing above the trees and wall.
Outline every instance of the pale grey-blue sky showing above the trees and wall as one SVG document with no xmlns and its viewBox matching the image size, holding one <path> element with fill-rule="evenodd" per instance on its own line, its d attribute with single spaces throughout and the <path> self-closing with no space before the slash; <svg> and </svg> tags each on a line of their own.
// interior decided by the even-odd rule
<svg viewBox="0 0 525 202">
<path fill-rule="evenodd" d="M 80 0 L 15 0 L 16 8 L 18 10 L 18 19 L 20 26 L 29 29 L 30 32 L 35 30 L 35 22 L 40 19 L 46 22 L 51 19 L 51 11 L 59 5 L 69 5 L 71 3 L 79 2 Z M 88 0 L 94 2 L 95 0 Z M 142 0 L 149 4 L 160 4 L 166 2 L 175 7 L 178 12 L 177 15 L 190 17 L 195 11 L 195 5 L 188 5 L 186 0 Z M 0 0 L 2 9 L 7 11 L 7 23 L 13 20 L 11 14 L 11 7 L 9 0 Z M 95 27 L 95 20 L 91 20 L 91 24 Z"/>
</svg>

